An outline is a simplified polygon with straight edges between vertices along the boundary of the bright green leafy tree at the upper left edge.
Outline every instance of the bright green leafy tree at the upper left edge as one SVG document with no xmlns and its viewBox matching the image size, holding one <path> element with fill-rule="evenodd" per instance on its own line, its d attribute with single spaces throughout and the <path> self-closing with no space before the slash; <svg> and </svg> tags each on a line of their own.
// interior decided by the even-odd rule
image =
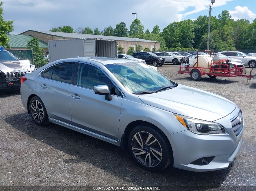
<svg viewBox="0 0 256 191">
<path fill-rule="evenodd" d="M 3 8 L 2 8 L 3 2 L 0 2 L 0 46 L 5 46 L 10 48 L 10 45 L 8 44 L 9 38 L 7 34 L 13 31 L 13 22 L 14 21 L 5 21 L 2 17 L 3 14 Z"/>
</svg>

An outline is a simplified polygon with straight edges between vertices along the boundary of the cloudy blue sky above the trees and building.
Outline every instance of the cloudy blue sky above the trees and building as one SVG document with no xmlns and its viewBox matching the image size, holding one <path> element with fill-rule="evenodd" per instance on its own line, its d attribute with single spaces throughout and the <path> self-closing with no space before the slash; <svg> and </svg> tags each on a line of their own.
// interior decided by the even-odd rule
<svg viewBox="0 0 256 191">
<path fill-rule="evenodd" d="M 3 17 L 15 20 L 13 34 L 26 30 L 50 30 L 70 25 L 78 27 L 104 27 L 125 22 L 127 28 L 137 18 L 152 31 L 158 24 L 163 30 L 174 21 L 196 19 L 208 15 L 210 0 L 4 0 Z M 256 0 L 215 0 L 212 15 L 228 10 L 235 20 L 256 17 Z"/>
</svg>

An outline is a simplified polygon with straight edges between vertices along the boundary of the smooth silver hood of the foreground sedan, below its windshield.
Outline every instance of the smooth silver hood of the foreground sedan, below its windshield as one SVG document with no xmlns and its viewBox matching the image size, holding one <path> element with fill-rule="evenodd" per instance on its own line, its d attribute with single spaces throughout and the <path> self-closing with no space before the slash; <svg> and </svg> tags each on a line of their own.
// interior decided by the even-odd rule
<svg viewBox="0 0 256 191">
<path fill-rule="evenodd" d="M 138 96 L 147 105 L 206 121 L 227 116 L 236 108 L 235 103 L 218 94 L 181 84 L 166 91 Z"/>
</svg>

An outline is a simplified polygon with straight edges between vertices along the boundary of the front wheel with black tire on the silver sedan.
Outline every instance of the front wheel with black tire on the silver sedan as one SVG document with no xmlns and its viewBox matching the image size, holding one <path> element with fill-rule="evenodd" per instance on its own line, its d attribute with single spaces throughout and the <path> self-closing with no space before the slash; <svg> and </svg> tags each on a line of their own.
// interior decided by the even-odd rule
<svg viewBox="0 0 256 191">
<path fill-rule="evenodd" d="M 147 145 L 145 144 L 145 142 L 147 141 L 145 139 L 147 139 L 147 136 L 149 136 L 150 134 L 152 135 L 152 137 L 148 140 L 148 145 Z M 140 139 L 140 143 L 141 141 L 144 142 L 141 144 L 143 145 L 143 147 L 141 147 L 141 145 L 138 143 L 135 136 L 137 138 L 141 136 L 142 140 L 140 138 L 139 139 Z M 155 139 L 156 141 L 154 142 Z M 138 165 L 145 168 L 146 170 L 157 172 L 168 167 L 168 165 L 171 164 L 173 160 L 172 149 L 170 145 L 167 143 L 167 141 L 168 139 L 165 140 L 165 138 L 162 137 L 162 135 L 160 135 L 155 129 L 152 129 L 151 127 L 148 127 L 148 126 L 137 126 L 134 129 L 132 129 L 132 131 L 129 134 L 128 149 L 132 155 L 132 158 L 137 162 Z M 139 146 L 137 147 L 136 144 Z M 140 149 L 140 147 L 141 147 L 141 150 L 134 149 L 134 148 Z M 140 151 L 142 154 L 138 154 L 140 153 Z M 135 153 L 137 153 L 137 156 L 135 156 Z M 151 159 L 150 165 L 149 165 L 149 158 Z M 144 163 L 143 163 L 143 160 L 144 160 Z M 146 161 L 146 164 L 145 164 L 145 161 Z"/>
</svg>

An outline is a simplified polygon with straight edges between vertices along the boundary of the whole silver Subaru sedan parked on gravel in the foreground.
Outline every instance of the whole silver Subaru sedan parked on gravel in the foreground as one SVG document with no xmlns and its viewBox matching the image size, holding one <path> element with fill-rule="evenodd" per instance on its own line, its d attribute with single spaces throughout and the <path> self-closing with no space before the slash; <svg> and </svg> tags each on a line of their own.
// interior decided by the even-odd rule
<svg viewBox="0 0 256 191">
<path fill-rule="evenodd" d="M 169 164 L 224 169 L 241 145 L 244 119 L 235 103 L 177 84 L 143 63 L 62 59 L 21 81 L 22 103 L 37 125 L 52 122 L 121 146 L 151 171 Z"/>
</svg>

